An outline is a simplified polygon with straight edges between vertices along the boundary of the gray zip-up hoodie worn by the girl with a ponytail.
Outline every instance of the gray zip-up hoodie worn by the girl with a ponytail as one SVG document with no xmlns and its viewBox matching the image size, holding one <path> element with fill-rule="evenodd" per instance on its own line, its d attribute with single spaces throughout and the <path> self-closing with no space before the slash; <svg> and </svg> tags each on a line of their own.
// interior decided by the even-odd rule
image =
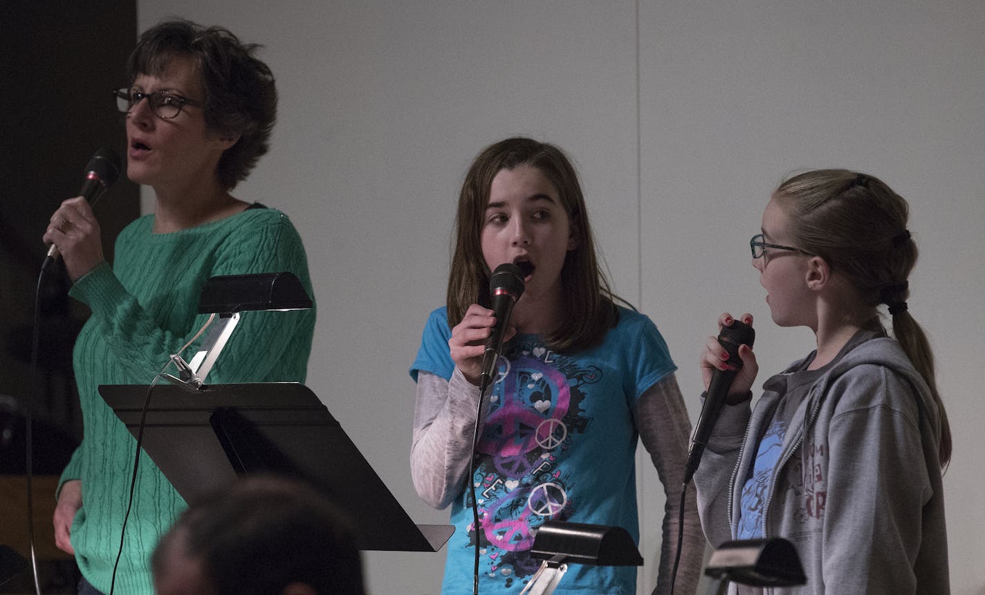
<svg viewBox="0 0 985 595">
<path fill-rule="evenodd" d="M 713 546 L 736 539 L 756 436 L 774 409 L 767 400 L 723 408 L 694 475 Z M 795 412 L 763 504 L 763 536 L 794 544 L 808 582 L 762 592 L 950 593 L 940 437 L 930 390 L 895 340 L 844 354 Z"/>
</svg>

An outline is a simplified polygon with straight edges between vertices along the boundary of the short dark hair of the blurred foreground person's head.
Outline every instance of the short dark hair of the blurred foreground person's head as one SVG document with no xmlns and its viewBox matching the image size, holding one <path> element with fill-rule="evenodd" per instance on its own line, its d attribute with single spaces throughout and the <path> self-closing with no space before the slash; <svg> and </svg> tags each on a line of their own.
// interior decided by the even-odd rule
<svg viewBox="0 0 985 595">
<path fill-rule="evenodd" d="M 293 582 L 322 595 L 365 592 L 353 529 L 325 496 L 295 480 L 253 476 L 197 500 L 158 544 L 155 573 L 175 539 L 219 595 L 279 593 Z"/>
</svg>

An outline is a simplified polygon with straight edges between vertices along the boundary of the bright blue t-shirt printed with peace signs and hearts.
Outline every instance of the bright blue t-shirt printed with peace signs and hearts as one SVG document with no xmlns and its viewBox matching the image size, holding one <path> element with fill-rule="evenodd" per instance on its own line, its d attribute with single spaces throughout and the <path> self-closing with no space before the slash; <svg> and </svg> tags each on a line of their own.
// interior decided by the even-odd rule
<svg viewBox="0 0 985 595">
<path fill-rule="evenodd" d="M 639 539 L 634 455 L 636 399 L 677 367 L 648 317 L 621 307 L 601 345 L 558 354 L 536 335 L 504 350 L 478 448 L 480 592 L 519 593 L 540 561 L 530 556 L 547 520 L 620 526 Z M 445 308 L 431 312 L 411 368 L 450 378 Z M 442 593 L 472 592 L 470 491 L 452 503 Z M 563 593 L 635 593 L 633 566 L 573 564 Z"/>
</svg>

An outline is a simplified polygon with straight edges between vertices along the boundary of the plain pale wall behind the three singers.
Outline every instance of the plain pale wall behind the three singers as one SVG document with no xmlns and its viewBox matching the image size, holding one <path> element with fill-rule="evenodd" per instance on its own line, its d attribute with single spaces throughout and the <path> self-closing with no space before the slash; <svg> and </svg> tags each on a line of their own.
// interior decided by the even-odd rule
<svg viewBox="0 0 985 595">
<path fill-rule="evenodd" d="M 771 189 L 805 167 L 886 179 L 910 201 L 910 310 L 952 419 L 952 592 L 985 593 L 985 4 L 138 2 L 141 31 L 172 15 L 266 45 L 280 119 L 237 195 L 294 220 L 319 307 L 307 384 L 422 523 L 447 513 L 411 486 L 407 367 L 443 299 L 458 186 L 481 148 L 525 134 L 574 158 L 616 289 L 664 332 L 692 419 L 719 312 L 757 316 L 767 371 L 811 349 L 809 332 L 768 322 L 749 264 Z M 664 502 L 652 470 L 640 496 L 648 593 Z M 369 553 L 365 567 L 377 595 L 425 594 L 443 561 Z"/>
</svg>

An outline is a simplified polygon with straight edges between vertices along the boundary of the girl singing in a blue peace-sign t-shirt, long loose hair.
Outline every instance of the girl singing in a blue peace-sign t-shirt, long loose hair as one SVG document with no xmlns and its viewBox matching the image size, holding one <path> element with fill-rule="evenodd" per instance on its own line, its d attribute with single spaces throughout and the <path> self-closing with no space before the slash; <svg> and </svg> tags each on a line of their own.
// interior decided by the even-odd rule
<svg viewBox="0 0 985 595">
<path fill-rule="evenodd" d="M 666 592 L 688 413 L 657 328 L 618 306 L 600 272 L 573 167 L 546 143 L 493 144 L 465 177 L 456 233 L 447 302 L 428 318 L 411 368 L 414 484 L 431 506 L 452 506 L 456 527 L 442 592 L 472 591 L 475 548 L 482 592 L 522 591 L 539 565 L 530 548 L 547 520 L 622 526 L 638 539 L 639 437 L 668 493 L 658 580 Z M 490 275 L 503 263 L 523 269 L 525 290 L 493 385 L 480 399 L 495 323 Z M 704 545 L 693 498 L 686 508 L 679 595 L 693 593 Z M 631 566 L 575 564 L 555 592 L 635 593 L 635 577 Z"/>
</svg>

